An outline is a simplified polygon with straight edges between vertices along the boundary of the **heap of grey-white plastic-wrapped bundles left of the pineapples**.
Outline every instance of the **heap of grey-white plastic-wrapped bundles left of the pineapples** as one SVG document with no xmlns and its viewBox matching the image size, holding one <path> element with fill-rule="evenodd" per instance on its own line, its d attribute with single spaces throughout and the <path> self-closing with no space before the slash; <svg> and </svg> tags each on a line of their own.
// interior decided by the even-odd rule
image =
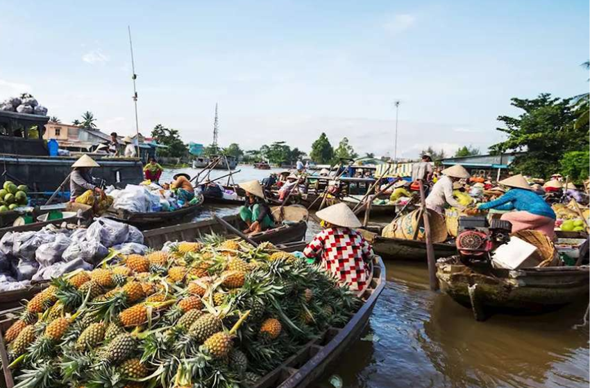
<svg viewBox="0 0 590 388">
<path fill-rule="evenodd" d="M 0 238 L 0 292 L 26 288 L 76 269 L 92 270 L 109 248 L 145 252 L 142 232 L 128 224 L 97 218 L 88 229 L 48 225 L 39 231 L 8 232 Z M 18 282 L 18 283 L 17 283 Z M 17 284 L 15 284 L 17 283 Z"/>
</svg>

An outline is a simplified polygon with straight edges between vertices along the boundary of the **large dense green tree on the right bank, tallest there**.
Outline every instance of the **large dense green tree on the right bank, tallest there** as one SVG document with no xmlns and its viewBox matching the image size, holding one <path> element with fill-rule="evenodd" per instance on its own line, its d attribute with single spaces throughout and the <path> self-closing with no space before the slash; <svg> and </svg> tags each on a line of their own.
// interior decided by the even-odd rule
<svg viewBox="0 0 590 388">
<path fill-rule="evenodd" d="M 524 112 L 517 118 L 498 117 L 505 124 L 498 130 L 505 132 L 507 139 L 492 145 L 490 150 L 523 150 L 512 168 L 517 173 L 549 177 L 566 152 L 588 149 L 588 123 L 574 125 L 577 115 L 571 101 L 572 98 L 553 98 L 550 94 L 540 94 L 532 100 L 512 98 L 512 105 Z"/>
</svg>

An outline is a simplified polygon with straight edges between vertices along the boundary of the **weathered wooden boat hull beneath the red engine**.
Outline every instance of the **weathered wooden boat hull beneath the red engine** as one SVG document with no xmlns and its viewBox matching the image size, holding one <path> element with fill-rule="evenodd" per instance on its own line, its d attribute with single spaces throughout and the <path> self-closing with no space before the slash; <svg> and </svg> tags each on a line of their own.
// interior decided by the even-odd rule
<svg viewBox="0 0 590 388">
<path fill-rule="evenodd" d="M 588 300 L 590 267 L 493 268 L 464 265 L 458 256 L 437 262 L 441 290 L 473 310 L 477 320 L 491 312 L 543 312 L 580 299 Z"/>
</svg>

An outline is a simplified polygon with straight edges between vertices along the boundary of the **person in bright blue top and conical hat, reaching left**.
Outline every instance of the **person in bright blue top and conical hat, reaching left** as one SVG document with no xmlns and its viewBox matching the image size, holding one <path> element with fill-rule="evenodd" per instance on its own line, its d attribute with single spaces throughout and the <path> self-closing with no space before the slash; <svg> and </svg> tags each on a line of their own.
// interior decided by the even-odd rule
<svg viewBox="0 0 590 388">
<path fill-rule="evenodd" d="M 501 220 L 512 223 L 512 233 L 521 230 L 537 230 L 549 238 L 555 236 L 555 212 L 537 193 L 522 175 L 514 175 L 498 182 L 509 188 L 497 200 L 478 204 L 478 209 L 514 210 L 504 213 Z"/>
</svg>

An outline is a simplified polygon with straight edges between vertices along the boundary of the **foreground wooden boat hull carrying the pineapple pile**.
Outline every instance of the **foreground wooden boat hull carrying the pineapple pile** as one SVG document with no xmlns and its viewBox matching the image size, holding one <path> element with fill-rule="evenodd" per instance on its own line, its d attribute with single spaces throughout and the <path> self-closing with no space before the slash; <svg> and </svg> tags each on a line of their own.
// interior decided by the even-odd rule
<svg viewBox="0 0 590 388">
<path fill-rule="evenodd" d="M 358 337 L 369 321 L 371 312 L 383 288 L 385 288 L 385 265 L 379 256 L 373 258 L 371 281 L 360 292 L 363 301 L 360 309 L 351 317 L 344 327 L 330 327 L 317 339 L 305 344 L 302 349 L 289 357 L 283 364 L 263 376 L 254 388 L 305 388 L 314 387 L 313 383 L 322 375 L 330 364 L 335 362 Z M 0 330 L 4 333 L 19 319 L 22 308 L 4 310 L 0 313 Z M 0 358 L 7 388 L 14 387 L 14 379 L 8 367 L 6 344 L 0 335 Z"/>
</svg>

